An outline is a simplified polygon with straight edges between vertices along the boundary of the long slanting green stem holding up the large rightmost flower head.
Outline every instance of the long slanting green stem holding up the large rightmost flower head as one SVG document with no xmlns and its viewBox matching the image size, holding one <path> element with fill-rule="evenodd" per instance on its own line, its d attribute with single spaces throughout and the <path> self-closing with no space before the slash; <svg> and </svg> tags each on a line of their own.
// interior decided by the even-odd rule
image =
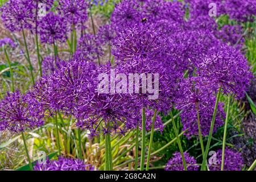
<svg viewBox="0 0 256 182">
<path fill-rule="evenodd" d="M 213 116 L 212 116 L 212 122 L 210 123 L 210 131 L 209 131 L 209 136 L 208 136 L 208 141 L 207 141 L 207 147 L 205 148 L 201 171 L 205 170 L 205 166 L 206 166 L 206 162 L 207 162 L 207 155 L 208 155 L 208 151 L 210 148 L 210 140 L 212 139 L 214 122 L 215 122 L 215 118 L 216 118 L 216 114 L 217 114 L 217 110 L 218 110 L 218 102 L 220 101 L 220 96 L 221 96 L 221 86 L 220 86 L 220 89 L 218 89 L 218 93 L 217 93 L 216 103 L 214 106 L 214 111 L 213 111 Z"/>
</svg>

